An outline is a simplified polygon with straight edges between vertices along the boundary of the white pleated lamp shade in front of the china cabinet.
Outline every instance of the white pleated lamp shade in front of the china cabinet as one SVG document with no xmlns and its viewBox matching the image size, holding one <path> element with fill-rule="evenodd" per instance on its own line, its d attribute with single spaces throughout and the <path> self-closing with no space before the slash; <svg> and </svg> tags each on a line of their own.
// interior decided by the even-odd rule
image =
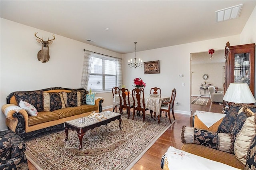
<svg viewBox="0 0 256 170">
<path fill-rule="evenodd" d="M 255 98 L 246 83 L 230 83 L 223 100 L 232 103 L 255 103 Z"/>
</svg>

